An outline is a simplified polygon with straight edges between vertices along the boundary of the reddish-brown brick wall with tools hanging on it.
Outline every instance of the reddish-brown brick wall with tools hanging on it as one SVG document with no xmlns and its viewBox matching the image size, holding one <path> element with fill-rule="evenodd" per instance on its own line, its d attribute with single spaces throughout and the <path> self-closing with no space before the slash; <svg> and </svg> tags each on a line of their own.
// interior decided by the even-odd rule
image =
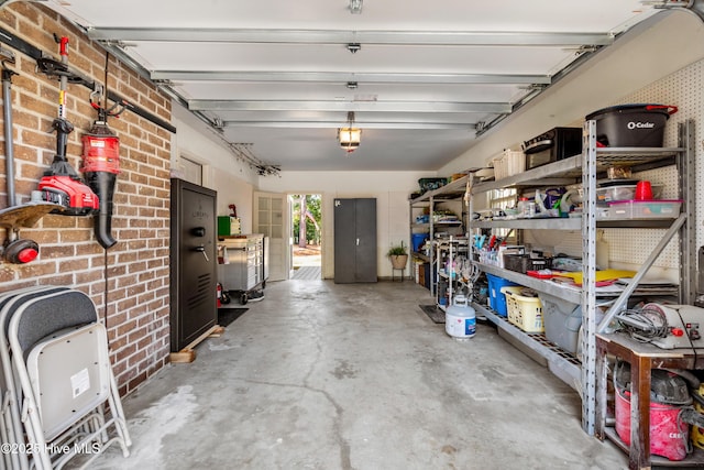
<svg viewBox="0 0 704 470">
<path fill-rule="evenodd" d="M 30 2 L 0 9 L 0 25 L 58 59 L 53 34 L 67 36 L 68 62 L 135 106 L 170 121 L 170 100 L 78 29 Z M 13 51 L 19 76 L 12 79 L 12 118 L 16 204 L 30 200 L 56 153 L 52 121 L 58 110 L 58 80 L 36 70 L 36 62 Z M 106 72 L 107 70 L 107 72 Z M 106 84 L 107 76 L 107 84 Z M 80 167 L 80 136 L 97 118 L 90 90 L 69 84 L 68 160 Z M 112 105 L 108 102 L 108 106 Z M 1 121 L 2 116 L 0 116 Z M 4 125 L 4 123 L 3 123 Z M 164 367 L 169 352 L 169 156 L 172 134 L 125 111 L 109 120 L 120 138 L 120 167 L 113 199 L 112 236 L 103 250 L 92 233 L 92 217 L 48 215 L 20 238 L 35 240 L 40 255 L 28 264 L 0 261 L 0 291 L 28 285 L 65 285 L 87 293 L 106 318 L 114 373 L 122 394 Z M 0 208 L 8 207 L 4 142 L 0 145 Z M 8 234 L 0 229 L 0 242 Z"/>
</svg>

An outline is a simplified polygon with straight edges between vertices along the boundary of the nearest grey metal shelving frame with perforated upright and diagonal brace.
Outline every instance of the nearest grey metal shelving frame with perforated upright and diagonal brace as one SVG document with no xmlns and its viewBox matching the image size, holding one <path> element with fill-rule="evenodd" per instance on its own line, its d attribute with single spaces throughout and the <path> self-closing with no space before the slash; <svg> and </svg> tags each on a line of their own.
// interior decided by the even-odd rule
<svg viewBox="0 0 704 470">
<path fill-rule="evenodd" d="M 628 297 L 637 293 L 638 283 L 645 273 L 650 269 L 660 252 L 670 240 L 679 234 L 680 240 L 680 286 L 678 297 L 680 303 L 693 304 L 696 293 L 695 265 L 692 260 L 696 259 L 694 220 L 694 124 L 686 121 L 679 127 L 679 147 L 597 147 L 596 146 L 596 122 L 584 123 L 583 153 L 559 162 L 550 163 L 537 168 L 529 170 L 518 175 L 509 176 L 501 181 L 472 184 L 472 176 L 469 181 L 469 212 L 472 214 L 473 196 L 492 189 L 506 187 L 531 187 L 547 185 L 565 185 L 581 181 L 584 187 L 583 215 L 581 218 L 544 218 L 544 219 L 516 219 L 516 220 L 492 220 L 492 221 L 469 221 L 469 230 L 473 228 L 513 228 L 520 230 L 551 229 L 551 230 L 581 230 L 583 234 L 582 263 L 583 263 L 583 288 L 581 291 L 561 287 L 556 283 L 550 283 L 527 276 L 513 271 L 507 271 L 496 266 L 477 263 L 477 266 L 487 273 L 507 278 L 518 284 L 531 287 L 539 292 L 544 292 L 565 299 L 566 302 L 582 305 L 582 357 L 581 367 L 575 365 L 574 358 L 556 353 L 535 335 L 529 335 L 509 325 L 503 318 L 487 309 L 485 306 L 474 304 L 477 311 L 484 313 L 487 319 L 496 324 L 503 331 L 520 342 L 526 348 L 548 361 L 550 370 L 556 375 L 565 380 L 574 386 L 579 383 L 579 391 L 582 396 L 582 427 L 593 435 L 595 426 L 596 406 L 596 341 L 595 334 L 601 332 L 608 325 L 613 316 L 622 309 Z M 661 167 L 666 165 L 676 165 L 679 174 L 680 198 L 685 200 L 684 211 L 676 219 L 649 219 L 649 220 L 598 220 L 596 211 L 596 178 L 612 165 L 629 165 L 634 172 Z M 642 228 L 642 229 L 666 229 L 662 239 L 651 251 L 648 260 L 642 264 L 634 280 L 616 297 L 613 306 L 606 313 L 605 318 L 597 325 L 596 323 L 596 229 L 598 228 Z M 600 297 L 602 295 L 600 294 Z"/>
</svg>

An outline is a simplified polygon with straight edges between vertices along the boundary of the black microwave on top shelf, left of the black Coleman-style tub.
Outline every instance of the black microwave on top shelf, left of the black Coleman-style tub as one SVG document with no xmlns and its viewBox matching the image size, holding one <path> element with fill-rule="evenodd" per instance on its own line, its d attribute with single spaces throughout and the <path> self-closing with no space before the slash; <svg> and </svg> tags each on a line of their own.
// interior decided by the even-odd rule
<svg viewBox="0 0 704 470">
<path fill-rule="evenodd" d="M 582 153 L 582 129 L 554 128 L 527 140 L 521 149 L 526 154 L 526 170 L 579 155 Z"/>
</svg>

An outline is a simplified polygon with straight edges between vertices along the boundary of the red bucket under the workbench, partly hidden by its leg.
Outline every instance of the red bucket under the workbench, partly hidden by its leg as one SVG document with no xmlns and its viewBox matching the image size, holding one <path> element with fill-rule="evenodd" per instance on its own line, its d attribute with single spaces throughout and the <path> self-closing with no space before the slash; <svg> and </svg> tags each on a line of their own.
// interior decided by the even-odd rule
<svg viewBox="0 0 704 470">
<path fill-rule="evenodd" d="M 689 425 L 680 419 L 681 406 L 650 403 L 650 453 L 669 460 L 686 457 Z M 616 390 L 616 434 L 630 447 L 630 392 Z"/>
</svg>

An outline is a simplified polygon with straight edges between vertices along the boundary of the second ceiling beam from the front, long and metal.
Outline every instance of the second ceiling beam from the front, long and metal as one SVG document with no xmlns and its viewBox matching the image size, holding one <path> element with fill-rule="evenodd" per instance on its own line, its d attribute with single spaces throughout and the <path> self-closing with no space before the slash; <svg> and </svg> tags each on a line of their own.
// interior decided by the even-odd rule
<svg viewBox="0 0 704 470">
<path fill-rule="evenodd" d="M 548 75 L 512 74 L 406 74 L 373 72 L 235 72 L 235 70 L 154 70 L 153 80 L 174 81 L 317 81 L 366 84 L 507 84 L 550 85 Z"/>
</svg>

